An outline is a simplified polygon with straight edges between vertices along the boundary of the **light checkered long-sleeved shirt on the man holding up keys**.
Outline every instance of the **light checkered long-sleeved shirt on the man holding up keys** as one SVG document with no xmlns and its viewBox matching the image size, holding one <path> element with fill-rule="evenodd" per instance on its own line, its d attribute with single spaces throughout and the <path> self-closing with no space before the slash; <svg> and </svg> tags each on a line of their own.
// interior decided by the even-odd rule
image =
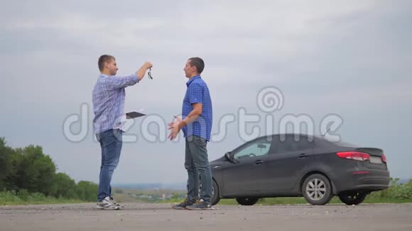
<svg viewBox="0 0 412 231">
<path fill-rule="evenodd" d="M 100 74 L 94 85 L 93 101 L 93 128 L 94 133 L 103 133 L 110 129 L 121 129 L 124 116 L 124 97 L 126 86 L 139 82 L 137 74 L 126 77 L 107 76 Z"/>
</svg>

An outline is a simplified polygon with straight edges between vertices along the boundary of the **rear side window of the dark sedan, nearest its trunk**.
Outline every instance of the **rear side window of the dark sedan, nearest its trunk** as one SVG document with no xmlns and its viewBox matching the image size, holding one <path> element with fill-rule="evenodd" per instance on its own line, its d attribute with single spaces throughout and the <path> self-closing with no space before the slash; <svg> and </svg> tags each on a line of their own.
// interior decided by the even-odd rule
<svg viewBox="0 0 412 231">
<path fill-rule="evenodd" d="M 276 139 L 276 153 L 282 152 L 299 152 L 302 150 L 308 150 L 313 147 L 313 140 L 308 140 L 308 137 L 299 136 L 298 140 L 295 140 L 293 135 L 287 135 L 286 137 L 277 137 Z"/>
</svg>

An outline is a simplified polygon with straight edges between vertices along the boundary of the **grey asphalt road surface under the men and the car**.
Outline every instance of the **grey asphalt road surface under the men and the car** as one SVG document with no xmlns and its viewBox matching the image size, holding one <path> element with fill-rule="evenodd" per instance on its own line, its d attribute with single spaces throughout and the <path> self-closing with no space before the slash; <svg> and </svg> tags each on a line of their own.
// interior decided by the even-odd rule
<svg viewBox="0 0 412 231">
<path fill-rule="evenodd" d="M 92 203 L 0 206 L 0 230 L 412 231 L 412 204 L 216 205 L 201 211 L 146 203 L 123 210 L 97 210 Z"/>
</svg>

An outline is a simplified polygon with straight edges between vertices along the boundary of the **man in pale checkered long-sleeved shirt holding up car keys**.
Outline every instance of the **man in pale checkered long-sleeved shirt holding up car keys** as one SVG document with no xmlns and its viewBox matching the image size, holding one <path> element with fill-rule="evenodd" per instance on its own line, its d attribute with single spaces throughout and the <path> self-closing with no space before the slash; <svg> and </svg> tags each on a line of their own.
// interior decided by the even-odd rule
<svg viewBox="0 0 412 231">
<path fill-rule="evenodd" d="M 100 75 L 92 94 L 93 128 L 102 149 L 97 208 L 116 210 L 122 206 L 113 201 L 110 181 L 119 164 L 122 146 L 121 120 L 124 117 L 126 96 L 124 89 L 141 81 L 152 64 L 146 62 L 136 73 L 124 77 L 116 76 L 118 68 L 112 55 L 99 57 L 98 65 Z"/>
</svg>

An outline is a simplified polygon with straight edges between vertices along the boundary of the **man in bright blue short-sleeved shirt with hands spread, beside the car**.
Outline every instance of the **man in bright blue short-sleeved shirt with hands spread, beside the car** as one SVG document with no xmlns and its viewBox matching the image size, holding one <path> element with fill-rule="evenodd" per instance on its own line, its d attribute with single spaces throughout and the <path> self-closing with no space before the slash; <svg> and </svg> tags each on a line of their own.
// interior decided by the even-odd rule
<svg viewBox="0 0 412 231">
<path fill-rule="evenodd" d="M 212 209 L 212 172 L 206 149 L 212 130 L 212 100 L 205 81 L 200 77 L 204 68 L 205 63 L 200 57 L 190 58 L 186 62 L 184 71 L 189 81 L 186 83 L 188 89 L 183 99 L 182 118 L 176 117 L 169 124 L 170 140 L 183 130 L 186 142 L 185 169 L 188 170 L 188 196 L 183 203 L 173 205 L 175 209 Z M 202 184 L 200 198 L 199 183 Z"/>
</svg>

